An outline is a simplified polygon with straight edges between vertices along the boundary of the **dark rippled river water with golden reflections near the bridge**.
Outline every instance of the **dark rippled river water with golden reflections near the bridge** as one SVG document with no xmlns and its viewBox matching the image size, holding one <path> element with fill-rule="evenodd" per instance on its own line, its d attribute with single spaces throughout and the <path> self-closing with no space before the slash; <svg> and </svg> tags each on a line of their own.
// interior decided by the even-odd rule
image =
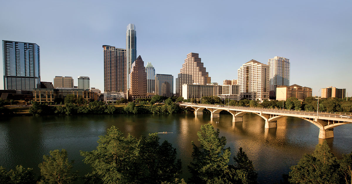
<svg viewBox="0 0 352 184">
<path fill-rule="evenodd" d="M 219 121 L 219 123 L 215 123 Z M 211 120 L 210 114 L 171 115 L 84 115 L 84 116 L 22 116 L 0 120 L 0 165 L 13 169 L 16 165 L 33 167 L 39 175 L 38 164 L 50 150 L 66 149 L 74 169 L 81 175 L 90 171 L 82 162 L 80 150 L 96 148 L 99 135 L 112 125 L 136 137 L 153 132 L 161 140 L 168 140 L 182 160 L 183 178 L 188 178 L 187 165 L 191 161 L 191 141 L 197 142 L 200 126 L 212 123 L 225 136 L 232 157 L 239 147 L 247 153 L 258 172 L 259 183 L 279 183 L 281 175 L 290 171 L 304 153 L 312 153 L 319 143 L 319 128 L 299 118 L 285 117 L 277 121 L 277 128 L 265 129 L 264 120 L 255 114 L 243 116 L 243 122 L 232 123 L 232 116 L 221 114 Z M 352 125 L 334 128 L 334 138 L 328 139 L 332 152 L 341 157 L 352 151 Z M 230 160 L 233 162 L 233 159 Z"/>
</svg>

